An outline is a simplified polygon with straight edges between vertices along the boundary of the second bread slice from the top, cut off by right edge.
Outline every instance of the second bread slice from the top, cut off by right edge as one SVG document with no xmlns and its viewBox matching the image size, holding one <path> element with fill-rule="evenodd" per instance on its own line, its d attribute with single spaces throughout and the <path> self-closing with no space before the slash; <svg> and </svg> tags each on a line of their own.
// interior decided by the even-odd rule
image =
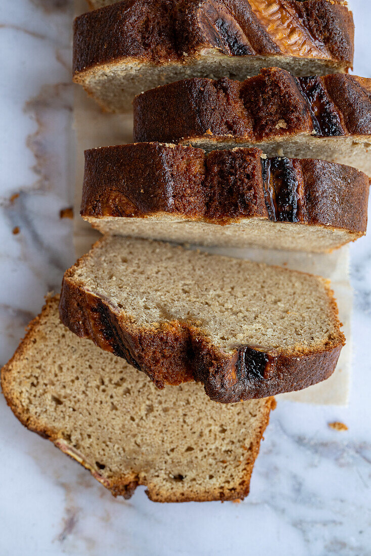
<svg viewBox="0 0 371 556">
<path fill-rule="evenodd" d="M 244 82 L 170 83 L 138 95 L 133 108 L 138 142 L 255 146 L 268 156 L 321 158 L 371 175 L 371 79 L 295 78 L 269 68 Z"/>
</svg>

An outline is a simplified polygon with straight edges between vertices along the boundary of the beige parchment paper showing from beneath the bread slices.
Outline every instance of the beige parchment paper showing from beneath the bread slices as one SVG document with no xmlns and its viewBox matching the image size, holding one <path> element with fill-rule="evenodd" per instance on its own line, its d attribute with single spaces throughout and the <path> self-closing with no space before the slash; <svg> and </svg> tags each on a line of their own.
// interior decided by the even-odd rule
<svg viewBox="0 0 371 556">
<path fill-rule="evenodd" d="M 86 3 L 76 0 L 76 13 L 86 11 Z M 122 145 L 132 141 L 132 115 L 105 113 L 89 98 L 81 86 L 75 87 L 74 105 L 76 190 L 74 206 L 74 241 L 76 257 L 88 251 L 100 236 L 80 217 L 81 188 L 83 180 L 83 151 L 86 148 Z M 350 321 L 352 316 L 352 290 L 349 282 L 349 249 L 347 246 L 332 254 L 308 254 L 295 251 L 273 251 L 263 249 L 227 249 L 200 247 L 205 251 L 235 256 L 268 264 L 281 265 L 293 270 L 311 272 L 329 278 L 339 306 L 340 321 L 347 344 L 340 353 L 334 374 L 322 383 L 305 390 L 280 394 L 278 399 L 288 399 L 311 404 L 347 405 L 349 393 L 352 336 Z"/>
</svg>

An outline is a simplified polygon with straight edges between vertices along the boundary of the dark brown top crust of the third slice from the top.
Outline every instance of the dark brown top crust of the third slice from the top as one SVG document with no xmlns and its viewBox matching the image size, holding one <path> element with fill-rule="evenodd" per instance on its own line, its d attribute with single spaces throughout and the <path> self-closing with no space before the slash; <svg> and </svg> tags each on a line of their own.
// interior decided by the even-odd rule
<svg viewBox="0 0 371 556">
<path fill-rule="evenodd" d="M 365 233 L 369 178 L 320 160 L 135 143 L 85 151 L 83 217 L 158 212 L 227 224 L 246 217 Z"/>
</svg>

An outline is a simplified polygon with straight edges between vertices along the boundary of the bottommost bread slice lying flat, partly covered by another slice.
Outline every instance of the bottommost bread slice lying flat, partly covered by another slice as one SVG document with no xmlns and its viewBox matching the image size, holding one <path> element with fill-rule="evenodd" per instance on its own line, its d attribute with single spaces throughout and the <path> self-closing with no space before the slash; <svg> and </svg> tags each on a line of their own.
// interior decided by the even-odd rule
<svg viewBox="0 0 371 556">
<path fill-rule="evenodd" d="M 155 388 L 126 361 L 78 339 L 47 301 L 2 369 L 9 406 L 113 495 L 147 485 L 156 502 L 249 493 L 273 398 L 221 405 L 199 384 Z"/>
</svg>

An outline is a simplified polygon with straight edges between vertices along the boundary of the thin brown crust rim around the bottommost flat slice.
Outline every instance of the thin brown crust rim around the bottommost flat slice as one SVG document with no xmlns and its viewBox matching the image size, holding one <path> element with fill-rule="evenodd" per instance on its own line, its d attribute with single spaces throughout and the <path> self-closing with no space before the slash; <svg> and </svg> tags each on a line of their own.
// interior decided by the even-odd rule
<svg viewBox="0 0 371 556">
<path fill-rule="evenodd" d="M 249 451 L 246 451 L 243 480 L 240 480 L 239 476 L 239 482 L 235 485 L 236 488 L 234 490 L 227 490 L 226 492 L 215 489 L 214 492 L 205 492 L 203 495 L 200 494 L 197 497 L 189 495 L 188 497 L 184 496 L 181 498 L 177 498 L 166 489 L 160 492 L 158 487 L 156 488 L 155 485 L 146 484 L 145 481 L 140 478 L 139 474 L 134 472 L 128 473 L 122 477 L 106 478 L 101 473 L 98 473 L 96 469 L 93 469 L 92 466 L 84 460 L 83 455 L 78 453 L 78 451 L 63 438 L 63 431 L 45 426 L 41 418 L 34 419 L 27 413 L 27 409 L 20 403 L 17 392 L 13 387 L 13 380 L 18 373 L 22 373 L 24 366 L 23 359 L 27 357 L 29 347 L 40 337 L 39 326 L 42 324 L 42 321 L 48 319 L 48 315 L 50 315 L 51 312 L 54 313 L 57 310 L 58 300 L 59 296 L 47 300 L 41 314 L 28 325 L 26 336 L 19 344 L 16 353 L 14 353 L 12 359 L 4 365 L 1 370 L 2 391 L 9 408 L 11 408 L 17 419 L 21 421 L 26 428 L 42 436 L 42 438 L 51 440 L 57 448 L 72 459 L 78 461 L 78 463 L 90 471 L 95 479 L 110 490 L 115 497 L 123 496 L 126 499 L 131 498 L 136 487 L 140 484 L 145 484 L 147 486 L 146 494 L 151 500 L 154 500 L 154 502 L 211 502 L 212 500 L 243 499 L 247 496 L 249 493 L 251 473 L 253 471 L 255 459 L 259 453 L 260 441 L 269 423 L 270 410 L 274 409 L 276 405 L 274 398 L 267 398 L 265 400 L 260 428 L 254 437 Z"/>
</svg>

